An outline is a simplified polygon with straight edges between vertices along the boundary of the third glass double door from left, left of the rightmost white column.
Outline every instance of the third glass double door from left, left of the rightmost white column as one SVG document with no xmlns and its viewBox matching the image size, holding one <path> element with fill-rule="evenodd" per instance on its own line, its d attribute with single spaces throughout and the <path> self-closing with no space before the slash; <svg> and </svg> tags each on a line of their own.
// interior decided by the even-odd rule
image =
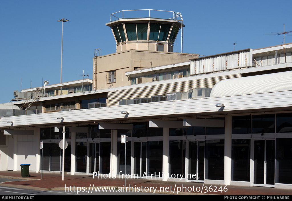
<svg viewBox="0 0 292 201">
<path fill-rule="evenodd" d="M 204 182 L 205 177 L 205 141 L 189 142 L 188 181 Z M 194 174 L 196 176 L 194 176 Z"/>
</svg>

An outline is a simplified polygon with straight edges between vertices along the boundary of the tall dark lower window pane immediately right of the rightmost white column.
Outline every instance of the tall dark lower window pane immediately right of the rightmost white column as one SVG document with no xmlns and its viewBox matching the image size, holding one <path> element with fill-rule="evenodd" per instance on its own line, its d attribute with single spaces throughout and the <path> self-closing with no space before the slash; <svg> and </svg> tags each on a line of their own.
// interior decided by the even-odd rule
<svg viewBox="0 0 292 201">
<path fill-rule="evenodd" d="M 251 140 L 232 140 L 232 181 L 250 181 Z"/>
</svg>

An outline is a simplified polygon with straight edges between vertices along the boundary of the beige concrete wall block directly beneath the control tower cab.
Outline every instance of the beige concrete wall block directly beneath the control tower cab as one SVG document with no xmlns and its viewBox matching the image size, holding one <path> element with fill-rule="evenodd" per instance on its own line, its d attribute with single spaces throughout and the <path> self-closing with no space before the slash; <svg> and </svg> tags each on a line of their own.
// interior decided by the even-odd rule
<svg viewBox="0 0 292 201">
<path fill-rule="evenodd" d="M 93 87 L 105 89 L 131 84 L 126 71 L 181 63 L 197 58 L 197 54 L 128 50 L 93 58 Z M 141 62 L 140 62 L 141 60 Z M 116 82 L 108 83 L 108 71 L 116 70 Z M 153 72 L 154 73 L 154 72 Z"/>
</svg>

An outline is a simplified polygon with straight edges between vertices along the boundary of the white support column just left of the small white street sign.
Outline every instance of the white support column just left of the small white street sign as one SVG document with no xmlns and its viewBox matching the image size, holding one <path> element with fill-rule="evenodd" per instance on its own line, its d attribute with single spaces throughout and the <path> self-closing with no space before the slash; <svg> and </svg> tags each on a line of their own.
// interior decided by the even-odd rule
<svg viewBox="0 0 292 201">
<path fill-rule="evenodd" d="M 112 130 L 111 133 L 110 174 L 117 176 L 118 130 Z"/>
</svg>

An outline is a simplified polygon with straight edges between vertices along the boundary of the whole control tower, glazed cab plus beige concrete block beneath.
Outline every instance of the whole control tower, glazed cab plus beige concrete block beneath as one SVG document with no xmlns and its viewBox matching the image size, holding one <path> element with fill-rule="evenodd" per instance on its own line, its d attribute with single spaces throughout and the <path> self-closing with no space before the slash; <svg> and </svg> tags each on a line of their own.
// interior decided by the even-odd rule
<svg viewBox="0 0 292 201">
<path fill-rule="evenodd" d="M 106 25 L 114 34 L 116 52 L 101 55 L 101 50 L 95 49 L 93 89 L 138 84 L 140 77 L 148 77 L 151 82 L 165 80 L 171 73 L 189 72 L 190 59 L 199 57 L 199 54 L 182 53 L 184 25 L 180 13 L 125 10 L 112 13 Z M 181 37 L 176 42 L 177 36 Z M 176 66 L 176 63 L 184 64 Z M 165 69 L 154 70 L 166 65 L 169 66 Z M 151 73 L 144 74 L 143 69 L 151 69 Z M 135 70 L 140 74 L 132 73 Z M 188 73 L 183 76 L 187 77 Z"/>
</svg>

